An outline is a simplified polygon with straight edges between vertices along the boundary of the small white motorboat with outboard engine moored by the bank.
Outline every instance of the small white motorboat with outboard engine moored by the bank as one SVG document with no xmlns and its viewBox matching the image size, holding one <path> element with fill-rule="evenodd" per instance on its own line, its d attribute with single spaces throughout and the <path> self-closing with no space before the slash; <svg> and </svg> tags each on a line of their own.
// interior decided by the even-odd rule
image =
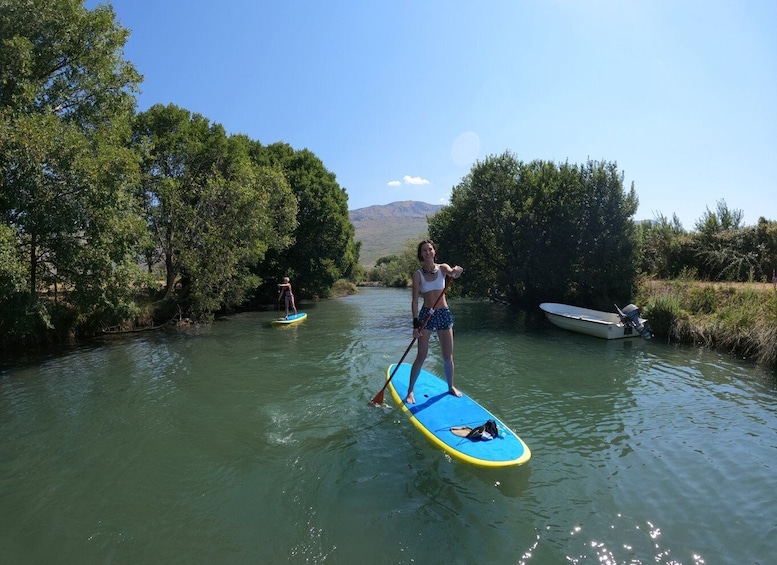
<svg viewBox="0 0 777 565">
<path fill-rule="evenodd" d="M 604 339 L 653 337 L 650 324 L 639 317 L 639 308 L 633 304 L 629 304 L 623 310 L 616 305 L 617 312 L 613 313 L 556 302 L 543 302 L 540 308 L 551 323 L 565 330 Z"/>
</svg>

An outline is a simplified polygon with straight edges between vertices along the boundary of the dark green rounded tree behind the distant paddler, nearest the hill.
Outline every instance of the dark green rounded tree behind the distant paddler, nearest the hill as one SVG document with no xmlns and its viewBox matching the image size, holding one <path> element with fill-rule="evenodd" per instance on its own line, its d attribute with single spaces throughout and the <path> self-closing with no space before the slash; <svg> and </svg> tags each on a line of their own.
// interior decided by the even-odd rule
<svg viewBox="0 0 777 565">
<path fill-rule="evenodd" d="M 273 279 L 291 277 L 302 296 L 328 296 L 335 281 L 352 278 L 359 260 L 345 190 L 307 149 L 275 143 L 253 155 L 258 163 L 284 171 L 299 204 L 294 244 L 268 253 L 262 272 Z M 274 287 L 265 287 L 266 295 L 273 292 Z"/>
</svg>

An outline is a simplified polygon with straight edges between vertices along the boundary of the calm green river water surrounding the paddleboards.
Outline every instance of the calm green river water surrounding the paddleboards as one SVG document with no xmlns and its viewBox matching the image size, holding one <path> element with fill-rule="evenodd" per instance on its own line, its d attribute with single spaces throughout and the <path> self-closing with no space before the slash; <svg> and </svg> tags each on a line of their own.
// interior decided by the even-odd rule
<svg viewBox="0 0 777 565">
<path fill-rule="evenodd" d="M 6 364 L 0 563 L 774 562 L 774 375 L 452 301 L 457 385 L 533 453 L 478 469 L 367 406 L 409 300 L 362 289 L 297 326 L 254 313 Z"/>
</svg>

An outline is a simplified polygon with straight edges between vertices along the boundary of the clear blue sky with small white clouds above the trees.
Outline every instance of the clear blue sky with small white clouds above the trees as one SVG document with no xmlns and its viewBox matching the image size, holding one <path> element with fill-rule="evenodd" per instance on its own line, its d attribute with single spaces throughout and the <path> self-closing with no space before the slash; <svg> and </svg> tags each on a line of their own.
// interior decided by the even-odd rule
<svg viewBox="0 0 777 565">
<path fill-rule="evenodd" d="M 445 203 L 510 151 L 617 162 L 637 220 L 690 230 L 719 200 L 746 225 L 777 220 L 773 0 L 111 4 L 139 110 L 173 103 L 307 148 L 350 209 Z"/>
</svg>

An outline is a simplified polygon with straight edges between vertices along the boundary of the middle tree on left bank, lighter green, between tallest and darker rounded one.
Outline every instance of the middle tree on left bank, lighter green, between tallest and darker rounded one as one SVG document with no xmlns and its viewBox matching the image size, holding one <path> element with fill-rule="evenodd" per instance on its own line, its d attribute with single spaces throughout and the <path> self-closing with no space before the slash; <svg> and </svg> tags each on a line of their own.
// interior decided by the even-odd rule
<svg viewBox="0 0 777 565">
<path fill-rule="evenodd" d="M 261 282 L 251 268 L 268 249 L 287 246 L 296 206 L 284 176 L 255 165 L 252 142 L 174 105 L 135 121 L 145 158 L 143 201 L 164 265 L 167 307 L 196 318 L 240 305 Z"/>
</svg>

